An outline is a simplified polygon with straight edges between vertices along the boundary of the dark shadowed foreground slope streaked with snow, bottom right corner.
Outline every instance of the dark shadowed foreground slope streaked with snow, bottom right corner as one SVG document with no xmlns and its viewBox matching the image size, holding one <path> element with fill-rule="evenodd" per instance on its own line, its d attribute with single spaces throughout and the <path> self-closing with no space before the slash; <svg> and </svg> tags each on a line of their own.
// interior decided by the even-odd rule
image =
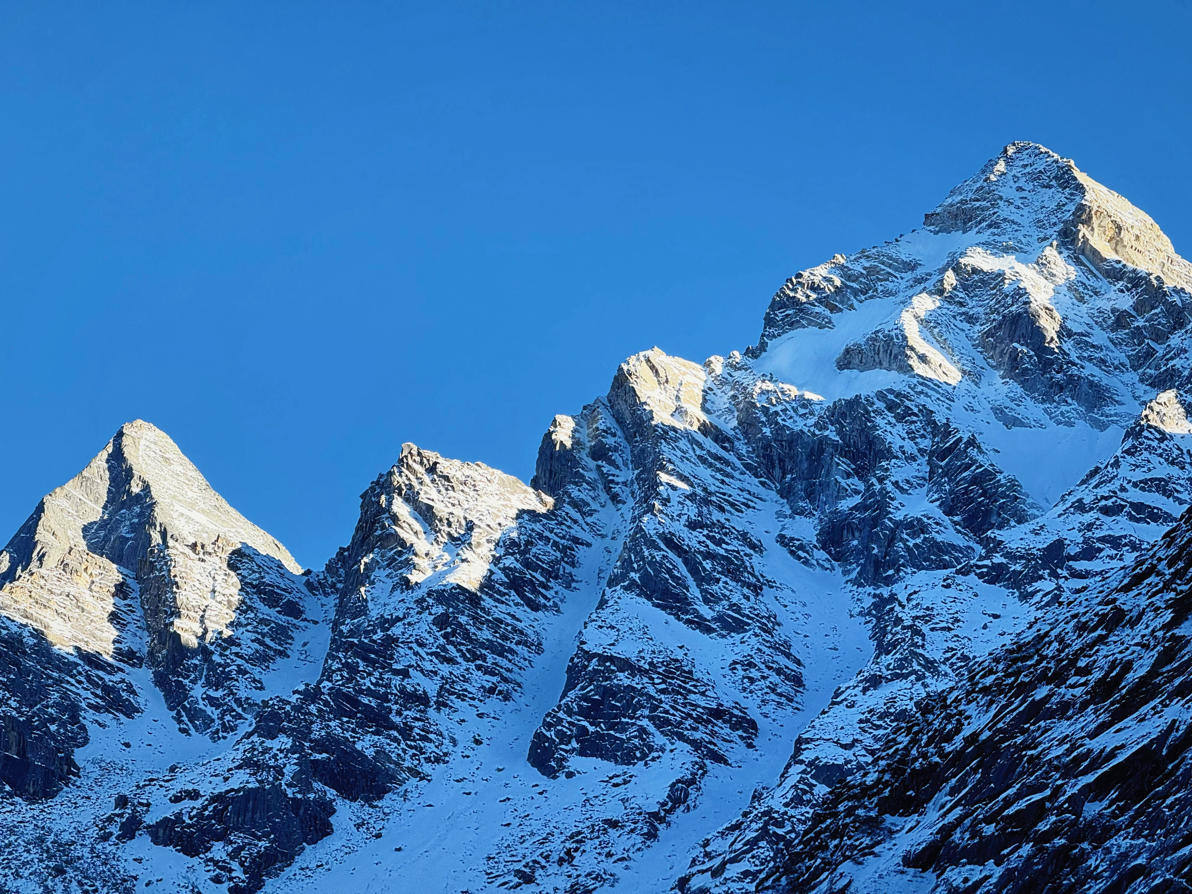
<svg viewBox="0 0 1192 894">
<path fill-rule="evenodd" d="M 1179 890 L 1192 514 L 886 737 L 764 880 L 790 892 Z"/>
</svg>

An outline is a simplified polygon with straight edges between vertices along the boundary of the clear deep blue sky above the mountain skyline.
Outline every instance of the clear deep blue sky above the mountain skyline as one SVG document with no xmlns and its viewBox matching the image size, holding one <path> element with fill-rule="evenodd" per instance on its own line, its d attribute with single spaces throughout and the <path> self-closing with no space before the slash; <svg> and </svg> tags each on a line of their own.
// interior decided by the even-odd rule
<svg viewBox="0 0 1192 894">
<path fill-rule="evenodd" d="M 2 4 L 0 542 L 124 421 L 321 565 L 1012 139 L 1192 254 L 1186 2 Z"/>
</svg>

